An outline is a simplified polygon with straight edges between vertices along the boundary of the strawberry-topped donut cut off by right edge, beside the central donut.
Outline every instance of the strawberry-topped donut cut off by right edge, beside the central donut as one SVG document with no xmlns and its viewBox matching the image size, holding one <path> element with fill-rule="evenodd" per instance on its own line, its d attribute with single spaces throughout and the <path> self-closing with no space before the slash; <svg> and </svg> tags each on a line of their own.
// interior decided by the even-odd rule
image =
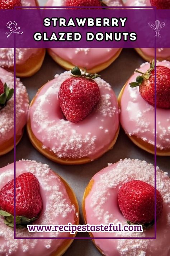
<svg viewBox="0 0 170 256">
<path fill-rule="evenodd" d="M 157 62 L 156 66 L 156 106 L 155 63 L 146 62 L 119 94 L 120 122 L 133 143 L 154 154 L 155 106 L 157 155 L 170 156 L 170 62 Z"/>
</svg>

